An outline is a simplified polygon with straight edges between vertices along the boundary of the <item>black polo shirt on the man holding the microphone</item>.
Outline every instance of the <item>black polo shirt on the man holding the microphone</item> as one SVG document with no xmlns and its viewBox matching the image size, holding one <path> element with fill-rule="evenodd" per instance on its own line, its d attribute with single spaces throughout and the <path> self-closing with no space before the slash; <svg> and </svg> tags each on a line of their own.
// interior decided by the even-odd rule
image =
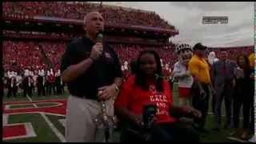
<svg viewBox="0 0 256 144">
<path fill-rule="evenodd" d="M 63 72 L 68 66 L 78 64 L 89 58 L 94 44 L 86 37 L 71 41 L 62 55 L 61 71 Z M 97 99 L 98 88 L 112 84 L 114 78 L 117 77 L 122 78 L 118 55 L 110 46 L 103 44 L 102 57 L 96 60 L 84 74 L 72 82 L 68 82 L 67 86 L 72 95 Z"/>
</svg>

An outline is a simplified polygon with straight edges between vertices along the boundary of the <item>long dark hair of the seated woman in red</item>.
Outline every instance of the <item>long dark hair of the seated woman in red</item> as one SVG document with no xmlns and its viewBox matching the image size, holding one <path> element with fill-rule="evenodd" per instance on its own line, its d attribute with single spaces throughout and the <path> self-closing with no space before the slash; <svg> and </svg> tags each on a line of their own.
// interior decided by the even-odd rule
<svg viewBox="0 0 256 144">
<path fill-rule="evenodd" d="M 144 50 L 138 55 L 138 59 L 137 59 L 137 62 L 136 62 L 136 69 L 135 69 L 135 84 L 138 85 L 138 86 L 141 86 L 143 90 L 149 90 L 149 86 L 146 84 L 145 74 L 143 74 L 142 71 L 139 68 L 141 66 L 142 55 L 144 55 L 144 54 L 154 55 L 154 59 L 157 63 L 157 70 L 156 70 L 155 73 L 158 76 L 160 76 L 160 77 L 156 76 L 157 79 L 156 79 L 156 82 L 155 82 L 154 86 L 156 87 L 156 90 L 162 92 L 163 91 L 162 66 L 161 66 L 159 55 L 154 50 Z"/>
</svg>

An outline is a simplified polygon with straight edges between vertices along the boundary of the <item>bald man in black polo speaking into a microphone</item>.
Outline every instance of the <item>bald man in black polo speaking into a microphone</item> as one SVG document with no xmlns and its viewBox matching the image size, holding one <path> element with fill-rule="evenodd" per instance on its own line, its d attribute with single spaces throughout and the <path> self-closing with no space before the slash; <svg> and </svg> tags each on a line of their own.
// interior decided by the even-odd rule
<svg viewBox="0 0 256 144">
<path fill-rule="evenodd" d="M 106 102 L 108 115 L 114 115 L 114 98 L 122 83 L 118 56 L 99 42 L 103 18 L 90 12 L 84 18 L 85 36 L 74 39 L 62 55 L 61 78 L 67 83 L 66 142 L 95 142 L 94 118 L 101 112 L 99 102 Z M 102 142 L 102 140 L 100 140 Z"/>
</svg>

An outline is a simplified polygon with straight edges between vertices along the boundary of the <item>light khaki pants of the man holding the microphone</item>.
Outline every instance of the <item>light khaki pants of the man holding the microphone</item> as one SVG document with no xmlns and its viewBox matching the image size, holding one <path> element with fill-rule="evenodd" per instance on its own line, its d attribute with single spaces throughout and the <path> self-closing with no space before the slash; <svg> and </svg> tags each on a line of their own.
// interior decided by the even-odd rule
<svg viewBox="0 0 256 144">
<path fill-rule="evenodd" d="M 114 100 L 106 101 L 106 111 L 114 115 Z M 94 118 L 101 112 L 98 101 L 70 95 L 66 109 L 66 142 L 103 142 L 96 138 Z"/>
</svg>

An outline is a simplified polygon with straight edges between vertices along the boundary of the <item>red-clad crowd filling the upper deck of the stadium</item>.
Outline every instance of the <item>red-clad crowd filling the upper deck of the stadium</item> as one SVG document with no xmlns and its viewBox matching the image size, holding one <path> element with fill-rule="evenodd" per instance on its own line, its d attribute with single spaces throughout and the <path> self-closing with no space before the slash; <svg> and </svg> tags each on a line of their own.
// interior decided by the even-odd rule
<svg viewBox="0 0 256 144">
<path fill-rule="evenodd" d="M 3 16 L 10 18 L 33 18 L 34 16 L 70 18 L 82 20 L 86 13 L 98 9 L 106 24 L 153 26 L 174 29 L 154 12 L 122 7 L 98 6 L 90 2 L 3 2 Z"/>
</svg>

